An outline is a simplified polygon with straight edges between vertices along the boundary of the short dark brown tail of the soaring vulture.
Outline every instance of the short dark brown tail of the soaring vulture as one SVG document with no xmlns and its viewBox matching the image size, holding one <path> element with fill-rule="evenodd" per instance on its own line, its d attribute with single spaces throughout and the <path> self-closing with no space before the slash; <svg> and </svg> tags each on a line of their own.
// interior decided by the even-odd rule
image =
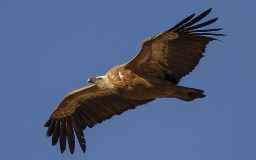
<svg viewBox="0 0 256 160">
<path fill-rule="evenodd" d="M 172 98 L 178 98 L 183 101 L 193 101 L 194 99 L 197 98 L 204 98 L 206 95 L 204 95 L 204 91 L 200 89 L 195 89 L 195 88 L 188 88 L 188 87 L 183 87 L 176 85 L 177 90 L 180 90 L 181 92 L 177 92 L 172 94 Z"/>
</svg>

